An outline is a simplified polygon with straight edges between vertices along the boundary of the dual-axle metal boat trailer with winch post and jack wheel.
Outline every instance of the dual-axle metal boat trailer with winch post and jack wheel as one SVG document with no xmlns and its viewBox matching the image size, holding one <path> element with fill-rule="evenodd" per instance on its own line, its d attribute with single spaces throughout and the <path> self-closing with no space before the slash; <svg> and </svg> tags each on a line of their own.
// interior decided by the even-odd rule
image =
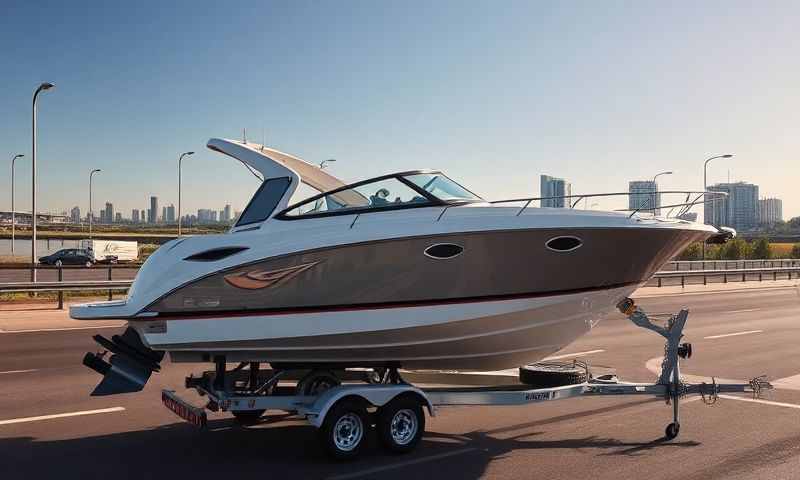
<svg viewBox="0 0 800 480">
<path fill-rule="evenodd" d="M 579 396 L 652 395 L 672 405 L 672 422 L 664 432 L 665 438 L 671 440 L 680 432 L 679 405 L 683 397 L 700 395 L 711 405 L 720 393 L 748 392 L 759 397 L 772 388 L 764 376 L 740 384 L 717 383 L 713 378 L 710 383 L 684 382 L 680 361 L 692 355 L 691 344 L 681 342 L 689 311 L 682 309 L 676 315 L 669 315 L 662 326 L 654 323 L 630 298 L 617 308 L 636 326 L 664 337 L 664 360 L 656 383 L 623 382 L 615 375 L 589 375 L 586 382 L 552 388 L 519 384 L 420 388 L 405 382 L 397 369 L 363 369 L 343 372 L 350 378 L 334 375 L 330 370 L 311 370 L 296 385 L 287 386 L 280 382 L 287 379 L 288 370 L 259 370 L 258 363 L 250 363 L 226 371 L 225 359 L 217 357 L 214 371 L 186 379 L 187 388 L 208 398 L 204 407 L 192 405 L 172 390 L 162 391 L 162 401 L 178 416 L 200 427 L 208 421 L 206 410 L 231 412 L 245 423 L 257 421 L 266 410 L 296 413 L 318 428 L 323 446 L 333 457 L 343 459 L 358 454 L 372 425 L 388 450 L 412 450 L 424 432 L 424 409 L 435 416 L 436 409 L 444 406 L 525 405 Z M 342 380 L 358 380 L 358 383 L 342 383 Z"/>
</svg>

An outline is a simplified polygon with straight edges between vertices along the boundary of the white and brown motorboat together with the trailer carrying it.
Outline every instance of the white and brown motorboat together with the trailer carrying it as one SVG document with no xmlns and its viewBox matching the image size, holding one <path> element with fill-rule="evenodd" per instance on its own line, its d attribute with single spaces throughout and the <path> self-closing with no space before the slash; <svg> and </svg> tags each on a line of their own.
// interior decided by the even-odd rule
<svg viewBox="0 0 800 480">
<path fill-rule="evenodd" d="M 765 386 L 683 384 L 677 358 L 691 352 L 679 343 L 688 312 L 656 327 L 628 301 L 689 244 L 724 241 L 724 229 L 660 216 L 655 208 L 648 214 L 641 205 L 600 212 L 536 208 L 543 199 L 533 198 L 489 202 L 437 170 L 345 184 L 262 145 L 212 139 L 208 147 L 245 164 L 262 184 L 226 234 L 182 237 L 159 248 L 125 300 L 70 308 L 80 320 L 128 322 L 122 335 L 96 335 L 104 351 L 84 357 L 103 375 L 93 395 L 143 389 L 166 353 L 172 362 L 210 362 L 213 371 L 186 380 L 208 398 L 206 406 L 166 390 L 164 404 L 198 425 L 206 409 L 242 421 L 267 409 L 297 412 L 320 428 L 329 452 L 346 458 L 372 424 L 390 450 L 412 449 L 424 430 L 423 409 L 433 414 L 436 405 L 656 394 L 675 405 L 666 432 L 672 438 L 680 396 Z M 295 201 L 301 184 L 319 193 Z M 724 195 L 661 193 L 687 195 L 660 207 L 677 208 L 678 217 L 707 195 Z M 558 198 L 574 207 L 620 195 L 628 194 Z M 658 383 L 587 378 L 555 388 L 430 390 L 402 377 L 402 369 L 537 362 L 615 308 L 667 338 Z M 229 370 L 231 363 L 238 366 Z M 357 381 L 348 382 L 354 375 Z"/>
</svg>

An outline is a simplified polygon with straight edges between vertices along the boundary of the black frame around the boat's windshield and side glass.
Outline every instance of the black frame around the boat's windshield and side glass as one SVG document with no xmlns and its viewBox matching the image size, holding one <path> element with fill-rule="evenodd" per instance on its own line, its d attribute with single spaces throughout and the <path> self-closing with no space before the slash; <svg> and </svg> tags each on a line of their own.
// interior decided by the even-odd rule
<svg viewBox="0 0 800 480">
<path fill-rule="evenodd" d="M 452 206 L 452 205 L 478 203 L 478 202 L 485 201 L 483 199 L 480 199 L 480 197 L 478 195 L 475 195 L 474 193 L 473 193 L 473 195 L 475 195 L 475 197 L 479 198 L 480 200 L 465 200 L 465 199 L 442 200 L 441 198 L 437 197 L 436 195 L 433 195 L 432 193 L 428 192 L 424 188 L 420 187 L 419 185 L 417 185 L 414 182 L 412 182 L 410 180 L 407 180 L 405 178 L 406 176 L 418 175 L 418 174 L 422 174 L 422 173 L 432 173 L 432 174 L 444 175 L 444 173 L 442 173 L 440 170 L 409 170 L 409 171 L 406 171 L 406 172 L 390 173 L 390 174 L 387 174 L 387 175 L 381 175 L 379 177 L 368 178 L 366 180 L 361 180 L 359 182 L 350 183 L 350 184 L 347 184 L 347 185 L 345 185 L 343 187 L 339 187 L 339 188 L 334 189 L 334 190 L 330 190 L 330 191 L 327 191 L 327 192 L 322 192 L 322 193 L 319 193 L 319 194 L 314 195 L 312 197 L 305 198 L 305 199 L 303 199 L 303 200 L 301 200 L 299 202 L 296 202 L 296 203 L 294 203 L 292 205 L 289 205 L 284 210 L 282 210 L 277 215 L 275 215 L 273 218 L 276 218 L 278 220 L 301 220 L 301 219 L 305 219 L 305 218 L 333 217 L 333 216 L 337 216 L 337 215 L 356 215 L 356 214 L 368 213 L 368 212 L 385 212 L 385 211 L 388 211 L 388 210 L 405 210 L 405 209 L 409 209 L 409 208 Z M 446 175 L 444 175 L 444 176 L 446 177 Z M 450 177 L 447 177 L 447 178 L 449 179 Z M 317 200 L 319 200 L 321 198 L 327 197 L 329 195 L 334 195 L 334 194 L 336 194 L 338 192 L 342 192 L 342 191 L 345 191 L 345 190 L 353 190 L 353 189 L 358 188 L 358 187 L 360 187 L 362 185 L 367 185 L 367 184 L 370 184 L 370 183 L 376 183 L 376 182 L 380 182 L 382 180 L 388 180 L 388 179 L 396 179 L 396 180 L 398 180 L 399 182 L 401 182 L 404 185 L 406 185 L 407 187 L 411 188 L 412 190 L 414 190 L 415 192 L 417 192 L 421 196 L 425 197 L 428 201 L 425 202 L 425 203 L 405 203 L 405 204 L 400 204 L 400 205 L 386 205 L 386 206 L 380 206 L 380 207 L 372 207 L 372 206 L 352 207 L 352 208 L 329 210 L 329 211 L 324 211 L 324 212 L 319 212 L 319 213 L 306 213 L 306 214 L 300 214 L 300 215 L 289 215 L 288 214 L 290 211 L 292 211 L 292 210 L 294 210 L 294 209 L 296 209 L 298 207 L 301 207 L 301 206 L 303 206 L 305 204 L 308 204 L 308 203 L 315 202 L 315 201 L 317 201 Z M 452 179 L 450 179 L 450 180 L 454 181 Z M 458 183 L 458 182 L 455 182 L 455 183 Z M 461 186 L 461 185 L 459 184 L 459 186 Z M 463 186 L 461 186 L 461 188 L 464 188 L 464 190 L 467 190 Z M 467 191 L 469 192 L 469 190 L 467 190 Z M 470 192 L 470 193 L 472 193 L 472 192 Z"/>
</svg>

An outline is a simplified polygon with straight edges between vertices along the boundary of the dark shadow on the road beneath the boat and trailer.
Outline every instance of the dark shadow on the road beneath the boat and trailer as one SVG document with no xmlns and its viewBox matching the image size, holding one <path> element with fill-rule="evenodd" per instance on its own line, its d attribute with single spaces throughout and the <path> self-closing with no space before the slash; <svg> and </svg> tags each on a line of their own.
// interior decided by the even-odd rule
<svg viewBox="0 0 800 480">
<path fill-rule="evenodd" d="M 519 429 L 530 428 L 521 424 Z M 501 429 L 507 431 L 506 428 Z M 500 432 L 497 432 L 500 433 Z M 0 439 L 0 478 L 169 478 L 219 479 L 232 474 L 273 478 L 326 478 L 363 472 L 363 478 L 437 476 L 479 478 L 489 464 L 515 451 L 597 450 L 597 455 L 639 456 L 661 448 L 687 448 L 697 442 L 624 442 L 611 438 L 540 440 L 544 432 L 497 438 L 497 433 L 451 435 L 429 432 L 415 452 L 395 456 L 369 446 L 355 462 L 333 462 L 316 441 L 316 430 L 296 417 L 273 416 L 253 427 L 213 420 L 201 431 L 185 423 L 147 430 L 64 440 L 33 437 Z M 502 434 L 502 433 L 501 433 Z M 457 452 L 461 450 L 462 452 Z M 430 460 L 426 460 L 431 457 Z M 267 470 L 265 470 L 267 468 Z M 378 474 L 375 470 L 379 470 Z"/>
</svg>

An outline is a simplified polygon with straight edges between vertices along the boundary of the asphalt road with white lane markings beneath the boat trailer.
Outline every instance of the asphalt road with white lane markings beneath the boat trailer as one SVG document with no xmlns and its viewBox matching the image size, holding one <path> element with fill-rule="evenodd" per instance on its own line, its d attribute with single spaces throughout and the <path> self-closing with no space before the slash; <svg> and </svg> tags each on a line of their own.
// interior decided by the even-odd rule
<svg viewBox="0 0 800 480">
<path fill-rule="evenodd" d="M 681 435 L 671 442 L 660 439 L 670 408 L 646 398 L 443 408 L 428 418 L 415 452 L 392 456 L 372 447 L 342 464 L 324 456 L 312 427 L 275 412 L 255 427 L 222 414 L 209 417 L 207 431 L 185 424 L 162 407 L 159 395 L 162 388 L 184 391 L 183 377 L 193 371 L 185 365 L 166 365 L 141 393 L 91 398 L 99 377 L 80 361 L 95 349 L 95 331 L 0 333 L 0 478 L 797 478 L 800 380 L 791 378 L 800 374 L 797 290 L 639 303 L 649 312 L 691 307 L 687 338 L 695 352 L 684 373 L 788 378 L 787 388 L 767 398 L 781 405 L 688 401 Z M 614 315 L 561 354 L 580 352 L 594 352 L 586 359 L 617 367 L 627 380 L 651 381 L 655 375 L 645 365 L 662 354 L 663 343 Z M 29 421 L 98 409 L 112 410 Z M 13 419 L 28 420 L 7 422 Z"/>
</svg>

